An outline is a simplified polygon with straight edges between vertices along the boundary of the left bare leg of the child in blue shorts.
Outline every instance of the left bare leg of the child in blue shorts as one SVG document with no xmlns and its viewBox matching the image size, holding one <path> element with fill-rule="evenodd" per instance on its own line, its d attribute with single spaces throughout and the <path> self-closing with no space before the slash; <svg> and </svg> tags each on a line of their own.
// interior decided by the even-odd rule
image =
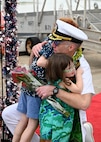
<svg viewBox="0 0 101 142">
<path fill-rule="evenodd" d="M 25 130 L 28 123 L 28 118 L 25 114 L 22 114 L 21 119 L 14 131 L 14 136 L 12 142 L 19 142 L 23 131 Z"/>
</svg>

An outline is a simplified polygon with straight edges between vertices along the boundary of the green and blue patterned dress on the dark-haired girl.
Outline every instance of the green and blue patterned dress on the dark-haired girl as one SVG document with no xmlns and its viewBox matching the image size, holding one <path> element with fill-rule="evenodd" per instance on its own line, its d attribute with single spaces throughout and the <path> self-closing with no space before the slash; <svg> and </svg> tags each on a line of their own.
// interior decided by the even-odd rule
<svg viewBox="0 0 101 142">
<path fill-rule="evenodd" d="M 57 81 L 54 85 L 60 88 L 58 83 Z M 74 109 L 60 99 L 56 97 L 54 97 L 54 99 L 59 102 L 70 115 L 66 117 L 54 109 L 46 99 L 42 100 L 39 113 L 40 137 L 43 140 L 52 140 L 52 142 L 69 142 L 73 127 Z"/>
</svg>

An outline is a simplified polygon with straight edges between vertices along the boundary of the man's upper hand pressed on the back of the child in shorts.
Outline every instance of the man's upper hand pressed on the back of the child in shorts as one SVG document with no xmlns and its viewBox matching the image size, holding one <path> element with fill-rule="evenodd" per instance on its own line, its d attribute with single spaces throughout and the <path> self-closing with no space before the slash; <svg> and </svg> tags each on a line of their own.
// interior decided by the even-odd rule
<svg viewBox="0 0 101 142">
<path fill-rule="evenodd" d="M 41 43 L 38 43 L 32 47 L 32 52 L 36 57 L 39 57 L 39 51 L 42 49 L 42 46 L 44 46 L 47 43 L 47 41 L 43 41 Z"/>
</svg>

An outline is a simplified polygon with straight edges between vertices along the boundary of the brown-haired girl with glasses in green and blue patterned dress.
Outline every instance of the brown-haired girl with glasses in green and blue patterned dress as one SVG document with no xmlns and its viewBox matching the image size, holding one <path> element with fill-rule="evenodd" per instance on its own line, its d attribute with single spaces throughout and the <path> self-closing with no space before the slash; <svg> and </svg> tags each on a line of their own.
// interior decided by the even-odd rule
<svg viewBox="0 0 101 142">
<path fill-rule="evenodd" d="M 49 84 L 66 91 L 81 93 L 83 71 L 81 68 L 75 69 L 71 57 L 63 53 L 56 53 L 46 63 L 44 61 L 44 64 L 46 65 L 46 77 Z M 66 117 L 63 113 L 54 109 L 47 99 L 42 100 L 39 113 L 41 141 L 69 142 L 74 120 L 74 109 L 54 95 L 52 98 L 59 102 L 70 115 Z"/>
</svg>

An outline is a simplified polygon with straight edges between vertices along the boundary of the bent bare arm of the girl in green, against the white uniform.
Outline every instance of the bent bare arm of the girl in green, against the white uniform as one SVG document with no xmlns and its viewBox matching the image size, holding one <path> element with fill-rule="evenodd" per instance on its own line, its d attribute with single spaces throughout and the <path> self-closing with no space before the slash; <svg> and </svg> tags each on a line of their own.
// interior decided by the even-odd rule
<svg viewBox="0 0 101 142">
<path fill-rule="evenodd" d="M 73 83 L 71 80 L 69 80 L 69 82 L 71 83 L 71 85 L 69 86 L 69 85 L 66 85 L 66 81 L 65 81 L 65 87 L 69 89 L 71 92 L 81 93 L 83 89 L 82 74 L 83 74 L 83 70 L 81 68 L 78 68 L 76 72 L 76 84 Z"/>
</svg>

